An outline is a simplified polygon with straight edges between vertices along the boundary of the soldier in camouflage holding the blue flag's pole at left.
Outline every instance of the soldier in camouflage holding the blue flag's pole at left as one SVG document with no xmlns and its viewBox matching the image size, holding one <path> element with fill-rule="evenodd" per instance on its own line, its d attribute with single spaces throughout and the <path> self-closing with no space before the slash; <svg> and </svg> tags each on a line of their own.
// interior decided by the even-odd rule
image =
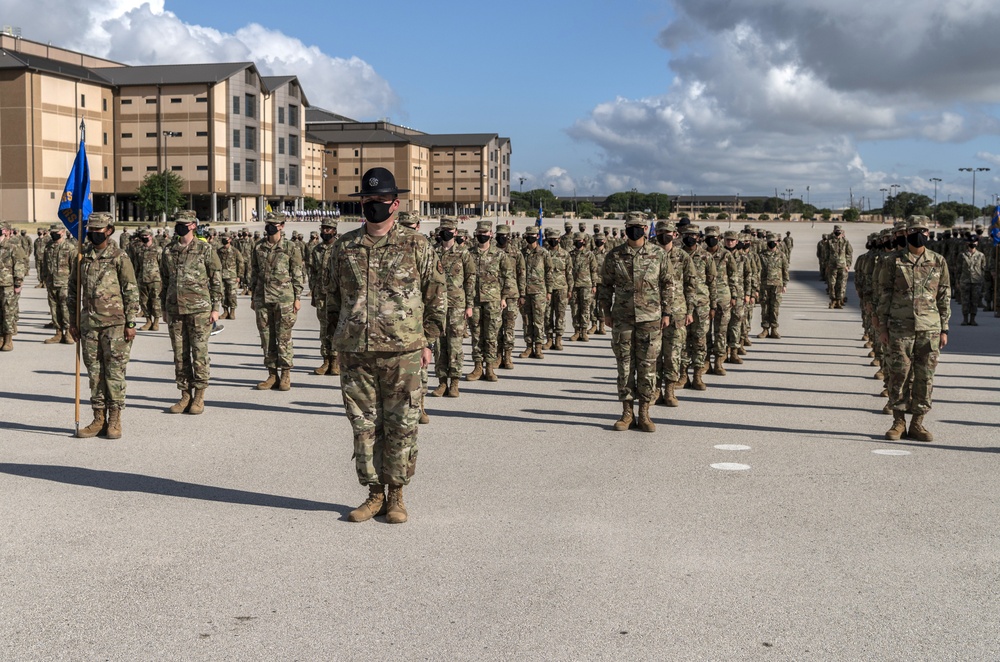
<svg viewBox="0 0 1000 662">
<path fill-rule="evenodd" d="M 94 420 L 77 432 L 81 439 L 99 434 L 108 439 L 122 436 L 125 369 L 139 315 L 139 287 L 132 262 L 110 241 L 114 232 L 111 214 L 91 214 L 87 224 L 90 243 L 83 249 L 79 265 L 74 263 L 70 271 L 69 332 L 81 345 L 94 410 Z"/>
</svg>

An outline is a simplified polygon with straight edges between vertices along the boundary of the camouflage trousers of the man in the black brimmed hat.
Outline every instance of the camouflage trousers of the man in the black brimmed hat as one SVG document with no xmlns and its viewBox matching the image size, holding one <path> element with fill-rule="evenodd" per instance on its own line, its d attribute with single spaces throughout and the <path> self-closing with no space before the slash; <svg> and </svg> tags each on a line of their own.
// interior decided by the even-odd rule
<svg viewBox="0 0 1000 662">
<path fill-rule="evenodd" d="M 407 485 L 417 464 L 420 351 L 342 352 L 340 385 L 362 485 Z"/>
</svg>

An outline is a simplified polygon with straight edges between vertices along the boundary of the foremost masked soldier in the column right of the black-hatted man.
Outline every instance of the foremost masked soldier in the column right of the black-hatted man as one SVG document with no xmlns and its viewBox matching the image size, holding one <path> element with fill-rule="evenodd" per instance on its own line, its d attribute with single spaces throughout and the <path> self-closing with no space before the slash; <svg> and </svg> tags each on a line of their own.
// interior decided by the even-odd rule
<svg viewBox="0 0 1000 662">
<path fill-rule="evenodd" d="M 615 424 L 621 432 L 635 427 L 655 432 L 649 405 L 656 397 L 656 360 L 663 329 L 670 325 L 674 278 L 667 254 L 647 240 L 648 225 L 641 214 L 625 219 L 626 243 L 608 253 L 601 270 L 600 308 L 611 327 L 611 347 L 618 364 L 618 399 L 622 415 Z M 639 417 L 633 412 L 639 400 Z"/>
</svg>

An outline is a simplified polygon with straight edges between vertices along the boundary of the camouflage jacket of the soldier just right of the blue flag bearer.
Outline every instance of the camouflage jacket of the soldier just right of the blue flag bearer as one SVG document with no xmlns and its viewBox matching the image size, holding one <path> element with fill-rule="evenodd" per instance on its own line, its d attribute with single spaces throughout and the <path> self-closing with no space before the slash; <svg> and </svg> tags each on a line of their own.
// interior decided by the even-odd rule
<svg viewBox="0 0 1000 662">
<path fill-rule="evenodd" d="M 160 257 L 163 289 L 160 300 L 170 316 L 219 310 L 222 302 L 222 266 L 215 249 L 194 239 L 187 246 L 170 242 Z"/>
</svg>

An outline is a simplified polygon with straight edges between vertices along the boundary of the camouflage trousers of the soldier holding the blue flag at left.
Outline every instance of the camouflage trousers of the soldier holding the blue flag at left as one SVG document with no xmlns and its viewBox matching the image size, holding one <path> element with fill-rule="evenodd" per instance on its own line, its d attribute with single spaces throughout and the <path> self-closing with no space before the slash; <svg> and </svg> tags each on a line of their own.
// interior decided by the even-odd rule
<svg viewBox="0 0 1000 662">
<path fill-rule="evenodd" d="M 132 343 L 124 326 L 80 332 L 83 364 L 90 379 L 90 405 L 94 409 L 125 408 L 125 368 Z"/>
</svg>

